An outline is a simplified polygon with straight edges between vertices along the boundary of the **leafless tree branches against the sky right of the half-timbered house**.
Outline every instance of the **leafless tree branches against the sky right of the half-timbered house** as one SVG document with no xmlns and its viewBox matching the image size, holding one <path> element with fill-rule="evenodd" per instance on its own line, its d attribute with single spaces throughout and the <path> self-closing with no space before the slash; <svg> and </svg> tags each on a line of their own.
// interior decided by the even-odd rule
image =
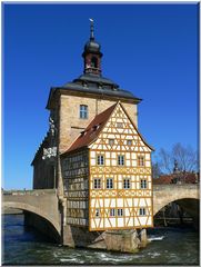
<svg viewBox="0 0 201 267">
<path fill-rule="evenodd" d="M 198 151 L 193 150 L 190 146 L 184 147 L 180 142 L 173 145 L 171 151 L 160 149 L 159 166 L 162 172 L 171 174 L 174 168 L 174 162 L 178 162 L 178 170 L 180 172 L 198 171 L 199 160 Z"/>
</svg>

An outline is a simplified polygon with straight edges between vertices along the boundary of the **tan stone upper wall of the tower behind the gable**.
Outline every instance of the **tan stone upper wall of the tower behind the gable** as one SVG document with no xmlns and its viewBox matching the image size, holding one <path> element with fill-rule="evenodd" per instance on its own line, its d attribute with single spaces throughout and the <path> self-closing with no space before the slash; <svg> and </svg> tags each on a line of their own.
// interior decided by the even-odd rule
<svg viewBox="0 0 201 267">
<path fill-rule="evenodd" d="M 102 112 L 115 102 L 114 100 L 62 95 L 60 97 L 59 151 L 64 152 L 96 115 Z M 80 119 L 80 105 L 88 106 L 88 119 Z M 138 125 L 137 105 L 129 102 L 123 102 L 122 105 L 134 123 Z"/>
</svg>

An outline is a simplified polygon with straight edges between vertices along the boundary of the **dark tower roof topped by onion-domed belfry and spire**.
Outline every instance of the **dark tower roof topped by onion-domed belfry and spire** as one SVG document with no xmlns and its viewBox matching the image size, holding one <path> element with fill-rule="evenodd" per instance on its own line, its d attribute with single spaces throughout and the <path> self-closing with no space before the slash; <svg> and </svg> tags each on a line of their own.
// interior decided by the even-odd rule
<svg viewBox="0 0 201 267">
<path fill-rule="evenodd" d="M 121 89 L 113 80 L 103 77 L 101 68 L 102 56 L 101 46 L 94 38 L 93 19 L 90 19 L 90 38 L 86 42 L 82 52 L 83 73 L 71 82 L 67 82 L 60 87 L 52 87 L 47 108 L 52 109 L 54 107 L 57 93 L 84 93 L 84 97 L 90 95 L 101 99 L 128 100 L 138 105 L 142 99 L 128 90 Z"/>
</svg>

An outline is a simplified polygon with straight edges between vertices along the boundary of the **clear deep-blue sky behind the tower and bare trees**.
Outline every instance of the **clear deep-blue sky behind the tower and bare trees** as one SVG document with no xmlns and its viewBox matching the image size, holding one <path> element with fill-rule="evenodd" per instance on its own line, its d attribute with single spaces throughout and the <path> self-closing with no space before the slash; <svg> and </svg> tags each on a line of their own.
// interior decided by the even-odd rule
<svg viewBox="0 0 201 267">
<path fill-rule="evenodd" d="M 6 189 L 31 188 L 48 130 L 50 87 L 83 71 L 94 19 L 103 76 L 143 101 L 139 129 L 155 148 L 198 148 L 198 4 L 3 6 L 2 158 Z"/>
</svg>

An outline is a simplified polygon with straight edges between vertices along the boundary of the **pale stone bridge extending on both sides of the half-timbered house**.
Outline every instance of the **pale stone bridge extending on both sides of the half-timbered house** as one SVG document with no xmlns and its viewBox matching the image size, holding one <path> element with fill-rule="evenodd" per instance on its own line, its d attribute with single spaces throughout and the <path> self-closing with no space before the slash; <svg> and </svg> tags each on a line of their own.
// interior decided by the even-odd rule
<svg viewBox="0 0 201 267">
<path fill-rule="evenodd" d="M 179 205 L 195 220 L 199 219 L 199 184 L 197 185 L 154 185 L 153 216 L 172 201 Z M 57 231 L 62 237 L 62 214 L 56 189 L 3 191 L 2 208 L 16 208 L 24 211 L 26 217 L 34 226 L 47 234 Z M 41 218 L 47 221 L 41 225 Z M 51 226 L 51 227 L 49 227 Z M 47 228 L 48 227 L 48 228 Z M 51 235 L 50 235 L 51 236 Z"/>
</svg>

